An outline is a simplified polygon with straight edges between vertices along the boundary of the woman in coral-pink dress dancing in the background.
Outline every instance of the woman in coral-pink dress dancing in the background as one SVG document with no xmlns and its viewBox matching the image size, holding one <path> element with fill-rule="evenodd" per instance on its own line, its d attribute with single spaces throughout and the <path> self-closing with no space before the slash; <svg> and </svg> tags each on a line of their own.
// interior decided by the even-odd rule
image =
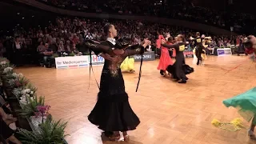
<svg viewBox="0 0 256 144">
<path fill-rule="evenodd" d="M 166 39 L 162 35 L 159 35 L 157 42 L 161 42 L 162 40 L 166 41 Z M 161 46 L 161 57 L 158 64 L 158 70 L 160 70 L 160 74 L 166 77 L 166 68 L 169 65 L 173 65 L 173 63 L 174 62 L 170 58 L 169 49 Z"/>
</svg>

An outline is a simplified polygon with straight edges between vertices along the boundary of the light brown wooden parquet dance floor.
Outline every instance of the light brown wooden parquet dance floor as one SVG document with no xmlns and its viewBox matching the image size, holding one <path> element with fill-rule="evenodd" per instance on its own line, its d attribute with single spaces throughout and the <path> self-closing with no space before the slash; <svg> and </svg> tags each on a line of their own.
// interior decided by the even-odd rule
<svg viewBox="0 0 256 144">
<path fill-rule="evenodd" d="M 237 110 L 228 109 L 222 100 L 241 94 L 256 86 L 256 64 L 246 56 L 209 57 L 205 66 L 186 63 L 195 72 L 186 85 L 163 78 L 156 69 L 158 60 L 144 62 L 141 84 L 138 82 L 139 62 L 135 74 L 123 74 L 130 105 L 141 120 L 137 130 L 130 131 L 132 144 L 250 144 L 246 129 L 230 132 L 211 125 L 217 118 L 230 122 L 241 118 Z M 237 67 L 238 66 L 238 67 Z M 233 68 L 236 69 L 232 70 Z M 46 96 L 46 103 L 55 119 L 69 121 L 66 138 L 70 144 L 100 144 L 101 131 L 88 122 L 87 115 L 97 99 L 98 87 L 94 78 L 89 84 L 89 68 L 55 70 L 42 67 L 19 68 Z M 227 72 L 228 70 L 231 70 Z M 94 66 L 100 81 L 102 66 Z M 248 122 L 243 122 L 246 128 Z M 103 139 L 103 143 L 112 144 Z M 126 142 L 120 142 L 126 143 Z"/>
</svg>

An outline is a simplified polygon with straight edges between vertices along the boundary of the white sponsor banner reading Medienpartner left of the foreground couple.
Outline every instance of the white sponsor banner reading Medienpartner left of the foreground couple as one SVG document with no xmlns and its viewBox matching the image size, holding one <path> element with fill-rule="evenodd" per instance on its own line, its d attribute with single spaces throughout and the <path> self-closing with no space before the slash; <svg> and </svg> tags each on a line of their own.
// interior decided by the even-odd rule
<svg viewBox="0 0 256 144">
<path fill-rule="evenodd" d="M 58 57 L 55 58 L 57 69 L 89 66 L 87 56 Z"/>
</svg>

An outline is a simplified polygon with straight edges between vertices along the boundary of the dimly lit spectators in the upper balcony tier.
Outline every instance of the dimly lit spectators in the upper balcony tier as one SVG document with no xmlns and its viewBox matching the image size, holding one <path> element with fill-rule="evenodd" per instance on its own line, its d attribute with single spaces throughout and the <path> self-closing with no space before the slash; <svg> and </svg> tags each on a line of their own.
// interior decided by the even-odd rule
<svg viewBox="0 0 256 144">
<path fill-rule="evenodd" d="M 255 18 L 251 14 L 211 10 L 206 7 L 194 6 L 190 2 L 171 3 L 155 0 L 110 0 L 110 1 L 83 1 L 83 0 L 38 0 L 52 6 L 70 10 L 107 14 L 139 14 L 165 18 L 186 19 L 202 22 L 209 25 L 221 26 L 230 30 L 255 30 Z"/>
</svg>

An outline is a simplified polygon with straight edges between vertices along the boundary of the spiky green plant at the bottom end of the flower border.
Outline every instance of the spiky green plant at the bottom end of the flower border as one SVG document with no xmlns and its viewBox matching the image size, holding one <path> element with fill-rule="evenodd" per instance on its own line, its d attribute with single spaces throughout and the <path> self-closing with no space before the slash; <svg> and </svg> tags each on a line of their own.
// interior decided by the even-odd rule
<svg viewBox="0 0 256 144">
<path fill-rule="evenodd" d="M 28 131 L 20 129 L 20 141 L 23 144 L 62 144 L 67 134 L 65 134 L 67 122 L 54 122 L 47 118 L 46 122 L 39 126 L 39 130 Z"/>
</svg>

